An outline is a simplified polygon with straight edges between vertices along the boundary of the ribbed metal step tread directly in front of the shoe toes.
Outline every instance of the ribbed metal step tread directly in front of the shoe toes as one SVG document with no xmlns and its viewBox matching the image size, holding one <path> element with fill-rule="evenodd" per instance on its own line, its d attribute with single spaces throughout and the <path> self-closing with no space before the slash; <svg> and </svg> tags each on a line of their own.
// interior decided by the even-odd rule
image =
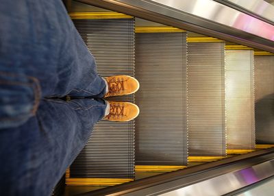
<svg viewBox="0 0 274 196">
<path fill-rule="evenodd" d="M 186 32 L 136 34 L 136 164 L 186 165 Z"/>
</svg>

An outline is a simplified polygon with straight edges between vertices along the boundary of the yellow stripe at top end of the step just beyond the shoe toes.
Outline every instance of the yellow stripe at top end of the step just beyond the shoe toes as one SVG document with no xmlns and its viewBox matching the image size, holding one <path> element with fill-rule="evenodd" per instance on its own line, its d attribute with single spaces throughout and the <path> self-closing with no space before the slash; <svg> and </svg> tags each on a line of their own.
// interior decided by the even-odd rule
<svg viewBox="0 0 274 196">
<path fill-rule="evenodd" d="M 165 26 L 147 26 L 147 27 L 135 27 L 135 33 L 175 33 L 175 32 L 186 32 L 183 29 L 176 27 L 165 27 Z"/>
</svg>

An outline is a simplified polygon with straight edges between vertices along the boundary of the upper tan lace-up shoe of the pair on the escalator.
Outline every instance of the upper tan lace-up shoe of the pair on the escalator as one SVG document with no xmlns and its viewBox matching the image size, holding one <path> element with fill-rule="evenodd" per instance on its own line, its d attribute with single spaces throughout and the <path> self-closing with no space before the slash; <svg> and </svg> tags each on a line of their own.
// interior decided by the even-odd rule
<svg viewBox="0 0 274 196">
<path fill-rule="evenodd" d="M 108 93 L 105 97 L 129 95 L 135 93 L 140 84 L 137 79 L 128 75 L 115 75 L 105 78 L 108 83 Z"/>
</svg>

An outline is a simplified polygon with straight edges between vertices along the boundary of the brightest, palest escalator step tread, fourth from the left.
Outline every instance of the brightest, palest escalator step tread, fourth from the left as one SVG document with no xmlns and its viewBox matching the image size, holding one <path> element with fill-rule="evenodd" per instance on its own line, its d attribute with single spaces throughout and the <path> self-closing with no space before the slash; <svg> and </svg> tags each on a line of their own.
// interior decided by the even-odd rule
<svg viewBox="0 0 274 196">
<path fill-rule="evenodd" d="M 227 149 L 255 148 L 252 50 L 225 51 Z"/>
</svg>

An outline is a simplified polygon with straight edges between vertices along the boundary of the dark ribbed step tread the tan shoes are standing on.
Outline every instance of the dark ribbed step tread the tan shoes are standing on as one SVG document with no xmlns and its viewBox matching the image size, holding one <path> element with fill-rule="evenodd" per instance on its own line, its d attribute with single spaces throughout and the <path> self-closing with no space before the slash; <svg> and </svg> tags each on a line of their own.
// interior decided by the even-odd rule
<svg viewBox="0 0 274 196">
<path fill-rule="evenodd" d="M 134 76 L 134 19 L 73 22 L 95 56 L 101 76 Z M 115 100 L 134 102 L 134 95 Z M 134 178 L 134 124 L 99 121 L 71 165 L 71 177 Z"/>
</svg>

